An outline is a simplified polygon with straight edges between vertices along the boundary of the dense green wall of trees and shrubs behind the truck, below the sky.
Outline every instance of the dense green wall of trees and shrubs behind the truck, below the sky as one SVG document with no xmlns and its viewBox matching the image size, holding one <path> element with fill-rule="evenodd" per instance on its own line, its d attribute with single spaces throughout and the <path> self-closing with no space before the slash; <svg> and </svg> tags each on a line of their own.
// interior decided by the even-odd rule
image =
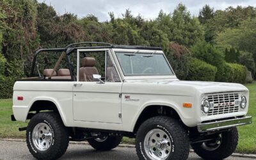
<svg viewBox="0 0 256 160">
<path fill-rule="evenodd" d="M 205 5 L 195 17 L 179 4 L 172 13 L 160 11 L 151 20 L 134 17 L 131 10 L 118 18 L 110 12 L 109 17 L 106 22 L 95 15 L 78 19 L 72 13 L 58 15 L 52 6 L 35 0 L 1 0 L 0 89 L 8 93 L 0 98 L 12 95 L 15 79 L 29 76 L 37 49 L 83 41 L 161 46 L 179 79 L 244 83 L 247 69 L 255 77 L 256 9 L 252 6 L 214 10 Z M 56 55 L 45 54 L 38 61 L 44 68 L 52 67 Z"/>
</svg>

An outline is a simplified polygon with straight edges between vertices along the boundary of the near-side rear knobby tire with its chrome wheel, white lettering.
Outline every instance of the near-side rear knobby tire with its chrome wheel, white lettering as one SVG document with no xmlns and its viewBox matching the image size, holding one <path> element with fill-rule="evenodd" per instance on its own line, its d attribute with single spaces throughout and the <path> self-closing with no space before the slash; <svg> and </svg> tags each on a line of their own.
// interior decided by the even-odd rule
<svg viewBox="0 0 256 160">
<path fill-rule="evenodd" d="M 67 150 L 68 131 L 58 114 L 38 113 L 28 124 L 26 141 L 36 159 L 58 159 Z"/>
</svg>

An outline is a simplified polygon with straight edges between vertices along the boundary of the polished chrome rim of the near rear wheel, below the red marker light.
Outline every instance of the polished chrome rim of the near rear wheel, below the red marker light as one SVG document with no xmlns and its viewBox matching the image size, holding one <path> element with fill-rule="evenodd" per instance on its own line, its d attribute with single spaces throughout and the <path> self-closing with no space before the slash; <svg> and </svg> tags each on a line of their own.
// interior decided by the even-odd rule
<svg viewBox="0 0 256 160">
<path fill-rule="evenodd" d="M 32 133 L 32 141 L 36 149 L 45 151 L 52 144 L 52 129 L 45 123 L 37 124 Z"/>
</svg>

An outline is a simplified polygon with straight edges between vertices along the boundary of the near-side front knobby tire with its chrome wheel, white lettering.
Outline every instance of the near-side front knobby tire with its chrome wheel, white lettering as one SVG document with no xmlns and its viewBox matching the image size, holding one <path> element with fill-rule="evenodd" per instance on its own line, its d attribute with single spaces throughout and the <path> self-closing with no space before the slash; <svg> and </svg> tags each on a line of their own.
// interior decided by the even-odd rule
<svg viewBox="0 0 256 160">
<path fill-rule="evenodd" d="M 178 120 L 155 116 L 138 129 L 136 152 L 140 159 L 147 160 L 188 159 L 188 132 Z"/>
</svg>

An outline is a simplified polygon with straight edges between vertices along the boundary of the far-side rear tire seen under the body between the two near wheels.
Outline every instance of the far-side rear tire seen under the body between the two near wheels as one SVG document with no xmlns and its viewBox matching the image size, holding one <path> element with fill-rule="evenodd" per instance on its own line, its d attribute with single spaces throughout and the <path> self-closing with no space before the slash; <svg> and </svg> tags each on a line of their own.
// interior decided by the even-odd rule
<svg viewBox="0 0 256 160">
<path fill-rule="evenodd" d="M 95 138 L 87 141 L 96 150 L 104 151 L 118 147 L 122 138 L 122 136 L 106 136 L 104 138 Z"/>
</svg>

